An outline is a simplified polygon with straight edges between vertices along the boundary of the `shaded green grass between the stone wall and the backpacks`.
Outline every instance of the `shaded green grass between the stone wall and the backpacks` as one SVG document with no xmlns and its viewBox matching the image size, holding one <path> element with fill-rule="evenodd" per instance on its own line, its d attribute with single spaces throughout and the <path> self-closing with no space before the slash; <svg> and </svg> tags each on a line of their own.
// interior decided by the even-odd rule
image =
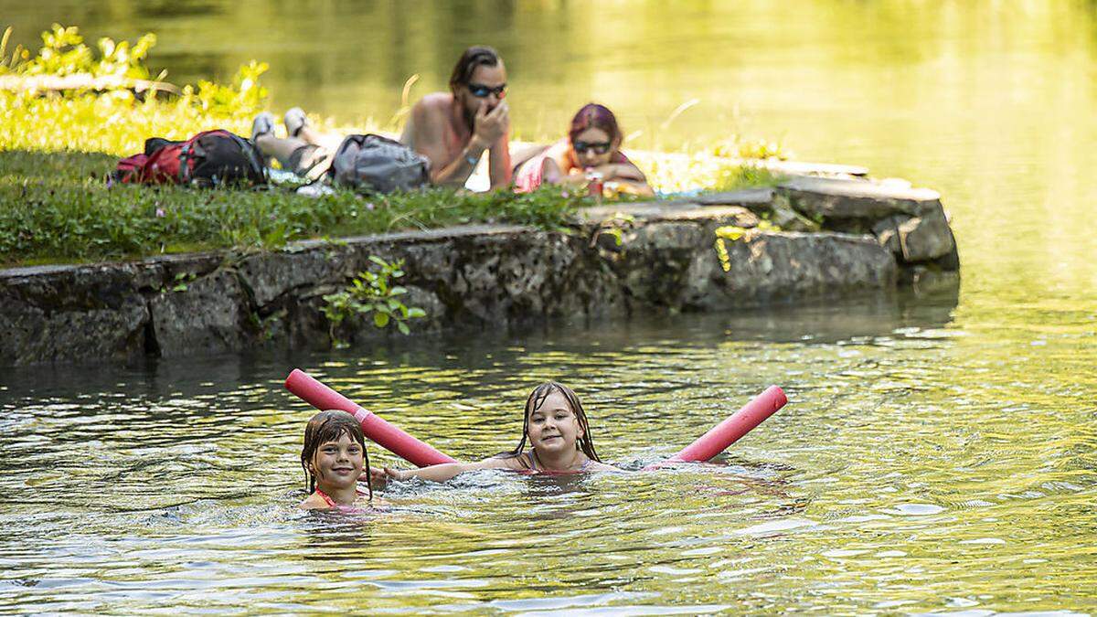
<svg viewBox="0 0 1097 617">
<path fill-rule="evenodd" d="M 497 222 L 553 228 L 580 205 L 545 189 L 531 194 L 452 190 L 312 199 L 283 189 L 108 188 L 113 157 L 0 153 L 0 263 L 136 258 L 216 248 L 278 248 L 314 237 Z"/>
</svg>

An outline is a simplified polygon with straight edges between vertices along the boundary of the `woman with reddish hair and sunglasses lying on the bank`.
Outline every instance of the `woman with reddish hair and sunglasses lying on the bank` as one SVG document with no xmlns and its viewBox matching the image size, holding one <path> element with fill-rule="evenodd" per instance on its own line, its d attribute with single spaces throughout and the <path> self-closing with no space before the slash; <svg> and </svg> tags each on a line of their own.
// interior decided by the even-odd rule
<svg viewBox="0 0 1097 617">
<path fill-rule="evenodd" d="M 619 192 L 655 194 L 644 172 L 621 153 L 623 139 L 613 112 L 588 103 L 572 119 L 567 137 L 518 167 L 514 191 L 527 193 L 542 183 L 587 187 L 600 180 Z"/>
</svg>

